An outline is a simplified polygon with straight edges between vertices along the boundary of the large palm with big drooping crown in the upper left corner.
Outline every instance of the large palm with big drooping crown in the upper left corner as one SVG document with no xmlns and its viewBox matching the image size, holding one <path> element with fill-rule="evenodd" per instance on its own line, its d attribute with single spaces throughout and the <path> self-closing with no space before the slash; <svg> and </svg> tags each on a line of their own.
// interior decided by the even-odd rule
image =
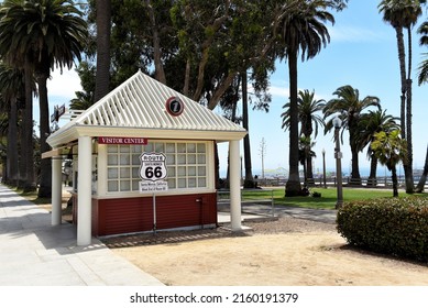
<svg viewBox="0 0 428 308">
<path fill-rule="evenodd" d="M 50 114 L 46 80 L 51 68 L 72 68 L 87 37 L 81 12 L 68 0 L 7 0 L 0 31 L 1 54 L 25 58 L 39 85 L 41 152 L 50 150 Z M 13 61 L 12 61 L 13 63 Z M 26 80 L 25 80 L 26 81 Z M 51 160 L 42 160 L 39 197 L 52 193 Z"/>
</svg>

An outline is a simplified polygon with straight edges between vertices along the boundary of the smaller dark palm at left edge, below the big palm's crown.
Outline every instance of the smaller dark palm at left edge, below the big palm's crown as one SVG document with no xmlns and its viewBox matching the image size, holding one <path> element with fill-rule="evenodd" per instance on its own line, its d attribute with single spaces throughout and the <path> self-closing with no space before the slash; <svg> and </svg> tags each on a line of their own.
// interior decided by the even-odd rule
<svg viewBox="0 0 428 308">
<path fill-rule="evenodd" d="M 0 88 L 8 110 L 7 183 L 18 186 L 18 103 L 23 98 L 24 74 L 17 68 L 0 65 Z"/>
</svg>

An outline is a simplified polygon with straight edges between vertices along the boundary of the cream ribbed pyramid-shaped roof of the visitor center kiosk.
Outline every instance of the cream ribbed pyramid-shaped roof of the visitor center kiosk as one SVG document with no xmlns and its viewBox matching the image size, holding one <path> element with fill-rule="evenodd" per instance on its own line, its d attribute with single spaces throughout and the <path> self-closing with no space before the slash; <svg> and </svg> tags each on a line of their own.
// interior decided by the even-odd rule
<svg viewBox="0 0 428 308">
<path fill-rule="evenodd" d="M 180 116 L 174 117 L 166 111 L 165 103 L 171 97 L 178 97 L 184 102 Z M 53 133 L 47 142 L 57 146 L 79 135 L 239 140 L 245 134 L 240 125 L 139 70 Z"/>
</svg>

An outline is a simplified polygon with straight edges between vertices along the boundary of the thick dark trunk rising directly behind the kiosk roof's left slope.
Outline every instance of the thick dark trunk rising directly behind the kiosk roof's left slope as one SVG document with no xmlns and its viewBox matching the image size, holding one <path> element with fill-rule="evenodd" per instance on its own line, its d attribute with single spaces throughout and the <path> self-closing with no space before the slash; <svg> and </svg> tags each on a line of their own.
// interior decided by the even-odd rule
<svg viewBox="0 0 428 308">
<path fill-rule="evenodd" d="M 96 0 L 97 8 L 97 75 L 95 101 L 109 92 L 111 0 Z"/>
</svg>

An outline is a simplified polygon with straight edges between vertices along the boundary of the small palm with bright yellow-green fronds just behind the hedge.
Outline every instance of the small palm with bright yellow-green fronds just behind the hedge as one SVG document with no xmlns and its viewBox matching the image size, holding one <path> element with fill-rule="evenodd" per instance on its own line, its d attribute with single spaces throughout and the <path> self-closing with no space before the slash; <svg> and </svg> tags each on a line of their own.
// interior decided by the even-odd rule
<svg viewBox="0 0 428 308">
<path fill-rule="evenodd" d="M 398 197 L 398 180 L 396 165 L 407 157 L 406 140 L 399 136 L 399 130 L 378 132 L 374 134 L 372 148 L 381 164 L 386 165 L 392 173 L 393 196 Z"/>
</svg>

